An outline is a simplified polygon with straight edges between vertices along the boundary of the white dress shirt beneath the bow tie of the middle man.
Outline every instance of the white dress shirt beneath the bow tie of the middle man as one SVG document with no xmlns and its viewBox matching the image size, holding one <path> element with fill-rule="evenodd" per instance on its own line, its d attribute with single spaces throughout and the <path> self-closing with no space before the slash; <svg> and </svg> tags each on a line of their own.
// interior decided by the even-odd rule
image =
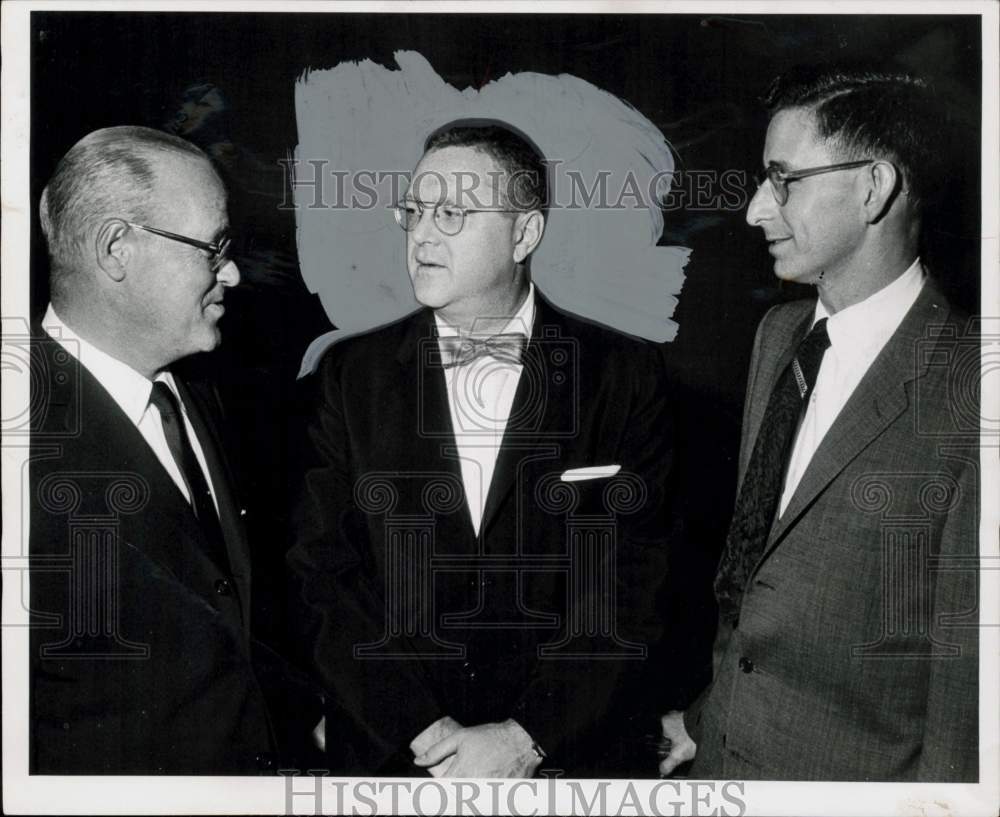
<svg viewBox="0 0 1000 817">
<path fill-rule="evenodd" d="M 530 284 L 528 295 L 517 314 L 499 332 L 483 333 L 482 337 L 517 333 L 530 338 L 534 319 L 535 285 Z M 460 334 L 458 329 L 438 315 L 434 316 L 434 320 L 439 337 Z M 472 336 L 478 337 L 480 333 L 474 331 Z M 444 370 L 462 483 L 477 536 L 523 368 L 520 364 L 483 356 Z"/>
</svg>

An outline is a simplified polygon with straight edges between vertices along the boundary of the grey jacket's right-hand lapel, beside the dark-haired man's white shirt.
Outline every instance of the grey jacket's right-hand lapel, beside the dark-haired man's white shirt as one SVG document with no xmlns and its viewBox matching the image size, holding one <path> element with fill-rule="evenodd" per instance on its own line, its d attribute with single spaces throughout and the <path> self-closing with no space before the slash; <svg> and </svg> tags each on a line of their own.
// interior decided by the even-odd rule
<svg viewBox="0 0 1000 817">
<path fill-rule="evenodd" d="M 788 507 L 771 528 L 765 556 L 795 525 L 836 476 L 906 410 L 906 384 L 922 377 L 927 361 L 918 360 L 917 342 L 931 320 L 944 321 L 944 300 L 925 284 L 899 328 L 844 405 L 802 475 Z"/>
</svg>

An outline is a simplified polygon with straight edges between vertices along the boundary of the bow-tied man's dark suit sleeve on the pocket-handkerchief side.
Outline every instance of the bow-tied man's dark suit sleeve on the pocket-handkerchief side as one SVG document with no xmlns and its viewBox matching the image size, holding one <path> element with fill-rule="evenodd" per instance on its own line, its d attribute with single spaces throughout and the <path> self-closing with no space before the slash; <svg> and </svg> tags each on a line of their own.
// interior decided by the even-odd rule
<svg viewBox="0 0 1000 817">
<path fill-rule="evenodd" d="M 614 733 L 621 723 L 608 722 L 640 707 L 641 679 L 649 646 L 656 644 L 664 621 L 658 604 L 667 570 L 668 545 L 674 538 L 669 509 L 668 477 L 673 456 L 673 418 L 666 396 L 660 350 L 645 347 L 645 355 L 620 362 L 632 372 L 631 382 L 616 399 L 627 399 L 618 457 L 622 472 L 639 478 L 644 501 L 637 512 L 619 514 L 615 560 L 614 604 L 600 593 L 583 598 L 583 609 L 609 605 L 615 611 L 615 636 L 620 644 L 638 645 L 642 657 L 609 657 L 595 644 L 593 655 L 578 659 L 541 658 L 534 677 L 512 717 L 542 749 L 558 760 L 564 746 Z M 626 397 L 627 395 L 627 397 Z M 644 707 L 643 707 L 644 708 Z M 654 710 L 650 708 L 650 713 Z"/>
</svg>

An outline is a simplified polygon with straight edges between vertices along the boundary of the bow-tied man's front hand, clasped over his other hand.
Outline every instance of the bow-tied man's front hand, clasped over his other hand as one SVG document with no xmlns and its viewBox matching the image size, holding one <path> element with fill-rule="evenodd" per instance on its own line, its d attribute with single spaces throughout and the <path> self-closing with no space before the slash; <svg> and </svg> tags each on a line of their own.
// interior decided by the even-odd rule
<svg viewBox="0 0 1000 817">
<path fill-rule="evenodd" d="M 459 729 L 413 762 L 433 767 L 451 757 L 444 777 L 531 777 L 542 762 L 532 745 L 517 721 L 484 723 Z"/>
</svg>

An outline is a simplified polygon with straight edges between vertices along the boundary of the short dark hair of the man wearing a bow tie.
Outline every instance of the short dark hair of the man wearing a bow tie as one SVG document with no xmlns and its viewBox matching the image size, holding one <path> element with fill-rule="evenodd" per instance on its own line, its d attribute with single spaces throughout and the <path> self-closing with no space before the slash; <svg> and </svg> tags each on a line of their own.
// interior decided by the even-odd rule
<svg viewBox="0 0 1000 817">
<path fill-rule="evenodd" d="M 424 153 L 447 147 L 468 147 L 487 154 L 507 174 L 504 204 L 518 210 L 548 206 L 548 167 L 534 142 L 516 128 L 492 119 L 449 122 L 424 141 Z"/>
</svg>

